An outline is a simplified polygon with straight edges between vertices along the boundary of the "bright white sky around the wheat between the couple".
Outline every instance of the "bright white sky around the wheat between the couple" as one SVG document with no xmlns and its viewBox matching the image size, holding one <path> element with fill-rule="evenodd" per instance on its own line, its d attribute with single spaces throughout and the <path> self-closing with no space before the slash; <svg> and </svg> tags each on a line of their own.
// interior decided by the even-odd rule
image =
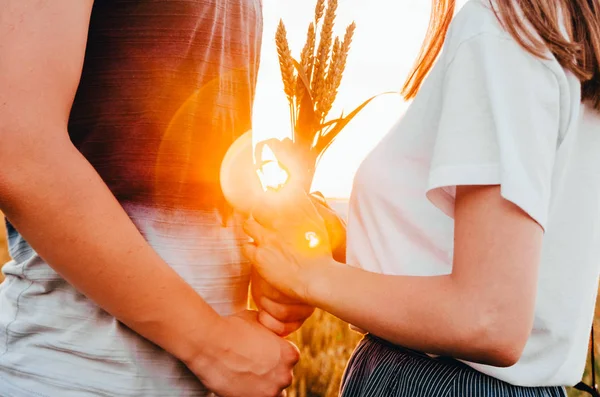
<svg viewBox="0 0 600 397">
<path fill-rule="evenodd" d="M 459 5 L 466 0 L 458 0 Z M 339 0 L 336 33 L 344 34 L 353 20 L 356 32 L 346 72 L 331 115 L 353 110 L 365 99 L 399 91 L 427 30 L 431 2 L 426 0 Z M 255 139 L 290 134 L 289 110 L 283 94 L 275 48 L 275 30 L 283 19 L 292 55 L 299 53 L 313 20 L 316 0 L 263 0 L 264 37 L 254 108 Z M 373 101 L 337 138 L 325 154 L 314 188 L 329 197 L 347 197 L 354 173 L 364 156 L 389 131 L 406 109 L 400 96 Z"/>
</svg>

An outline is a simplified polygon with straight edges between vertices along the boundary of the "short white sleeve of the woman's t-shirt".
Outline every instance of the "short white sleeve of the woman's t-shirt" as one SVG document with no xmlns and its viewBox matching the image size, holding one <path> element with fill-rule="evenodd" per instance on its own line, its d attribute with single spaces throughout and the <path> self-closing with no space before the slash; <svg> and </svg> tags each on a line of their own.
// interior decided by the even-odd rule
<svg viewBox="0 0 600 397">
<path fill-rule="evenodd" d="M 545 228 L 560 130 L 556 74 L 508 38 L 463 42 L 446 66 L 427 197 L 454 215 L 456 186 L 500 185 Z"/>
</svg>

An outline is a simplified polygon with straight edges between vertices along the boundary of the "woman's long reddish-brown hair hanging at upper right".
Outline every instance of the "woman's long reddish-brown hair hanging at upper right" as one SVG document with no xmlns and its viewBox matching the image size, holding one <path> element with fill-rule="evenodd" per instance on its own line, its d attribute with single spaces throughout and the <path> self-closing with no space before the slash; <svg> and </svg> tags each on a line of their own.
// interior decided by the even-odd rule
<svg viewBox="0 0 600 397">
<path fill-rule="evenodd" d="M 496 0 L 495 3 L 494 12 L 515 40 L 540 58 L 545 58 L 550 50 L 581 81 L 582 100 L 600 110 L 600 0 Z M 405 99 L 415 97 L 440 54 L 455 4 L 456 0 L 433 0 L 427 36 L 402 88 Z M 569 38 L 562 33 L 563 21 Z"/>
</svg>

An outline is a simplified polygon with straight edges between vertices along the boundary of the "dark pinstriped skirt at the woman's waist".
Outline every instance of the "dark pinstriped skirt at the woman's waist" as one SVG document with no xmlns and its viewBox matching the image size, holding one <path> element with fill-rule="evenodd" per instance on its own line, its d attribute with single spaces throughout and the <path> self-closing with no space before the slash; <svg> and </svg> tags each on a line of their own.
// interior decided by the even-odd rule
<svg viewBox="0 0 600 397">
<path fill-rule="evenodd" d="M 566 397 L 562 387 L 519 387 L 453 359 L 431 358 L 366 336 L 344 375 L 342 397 Z"/>
</svg>

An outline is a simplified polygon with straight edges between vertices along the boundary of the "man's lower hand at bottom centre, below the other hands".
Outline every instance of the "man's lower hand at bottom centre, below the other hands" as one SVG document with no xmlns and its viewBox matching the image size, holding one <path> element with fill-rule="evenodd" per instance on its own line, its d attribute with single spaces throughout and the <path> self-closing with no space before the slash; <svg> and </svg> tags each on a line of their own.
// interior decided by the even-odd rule
<svg viewBox="0 0 600 397">
<path fill-rule="evenodd" d="M 220 397 L 279 397 L 292 383 L 298 348 L 264 328 L 257 313 L 225 317 L 213 340 L 188 368 Z"/>
</svg>

